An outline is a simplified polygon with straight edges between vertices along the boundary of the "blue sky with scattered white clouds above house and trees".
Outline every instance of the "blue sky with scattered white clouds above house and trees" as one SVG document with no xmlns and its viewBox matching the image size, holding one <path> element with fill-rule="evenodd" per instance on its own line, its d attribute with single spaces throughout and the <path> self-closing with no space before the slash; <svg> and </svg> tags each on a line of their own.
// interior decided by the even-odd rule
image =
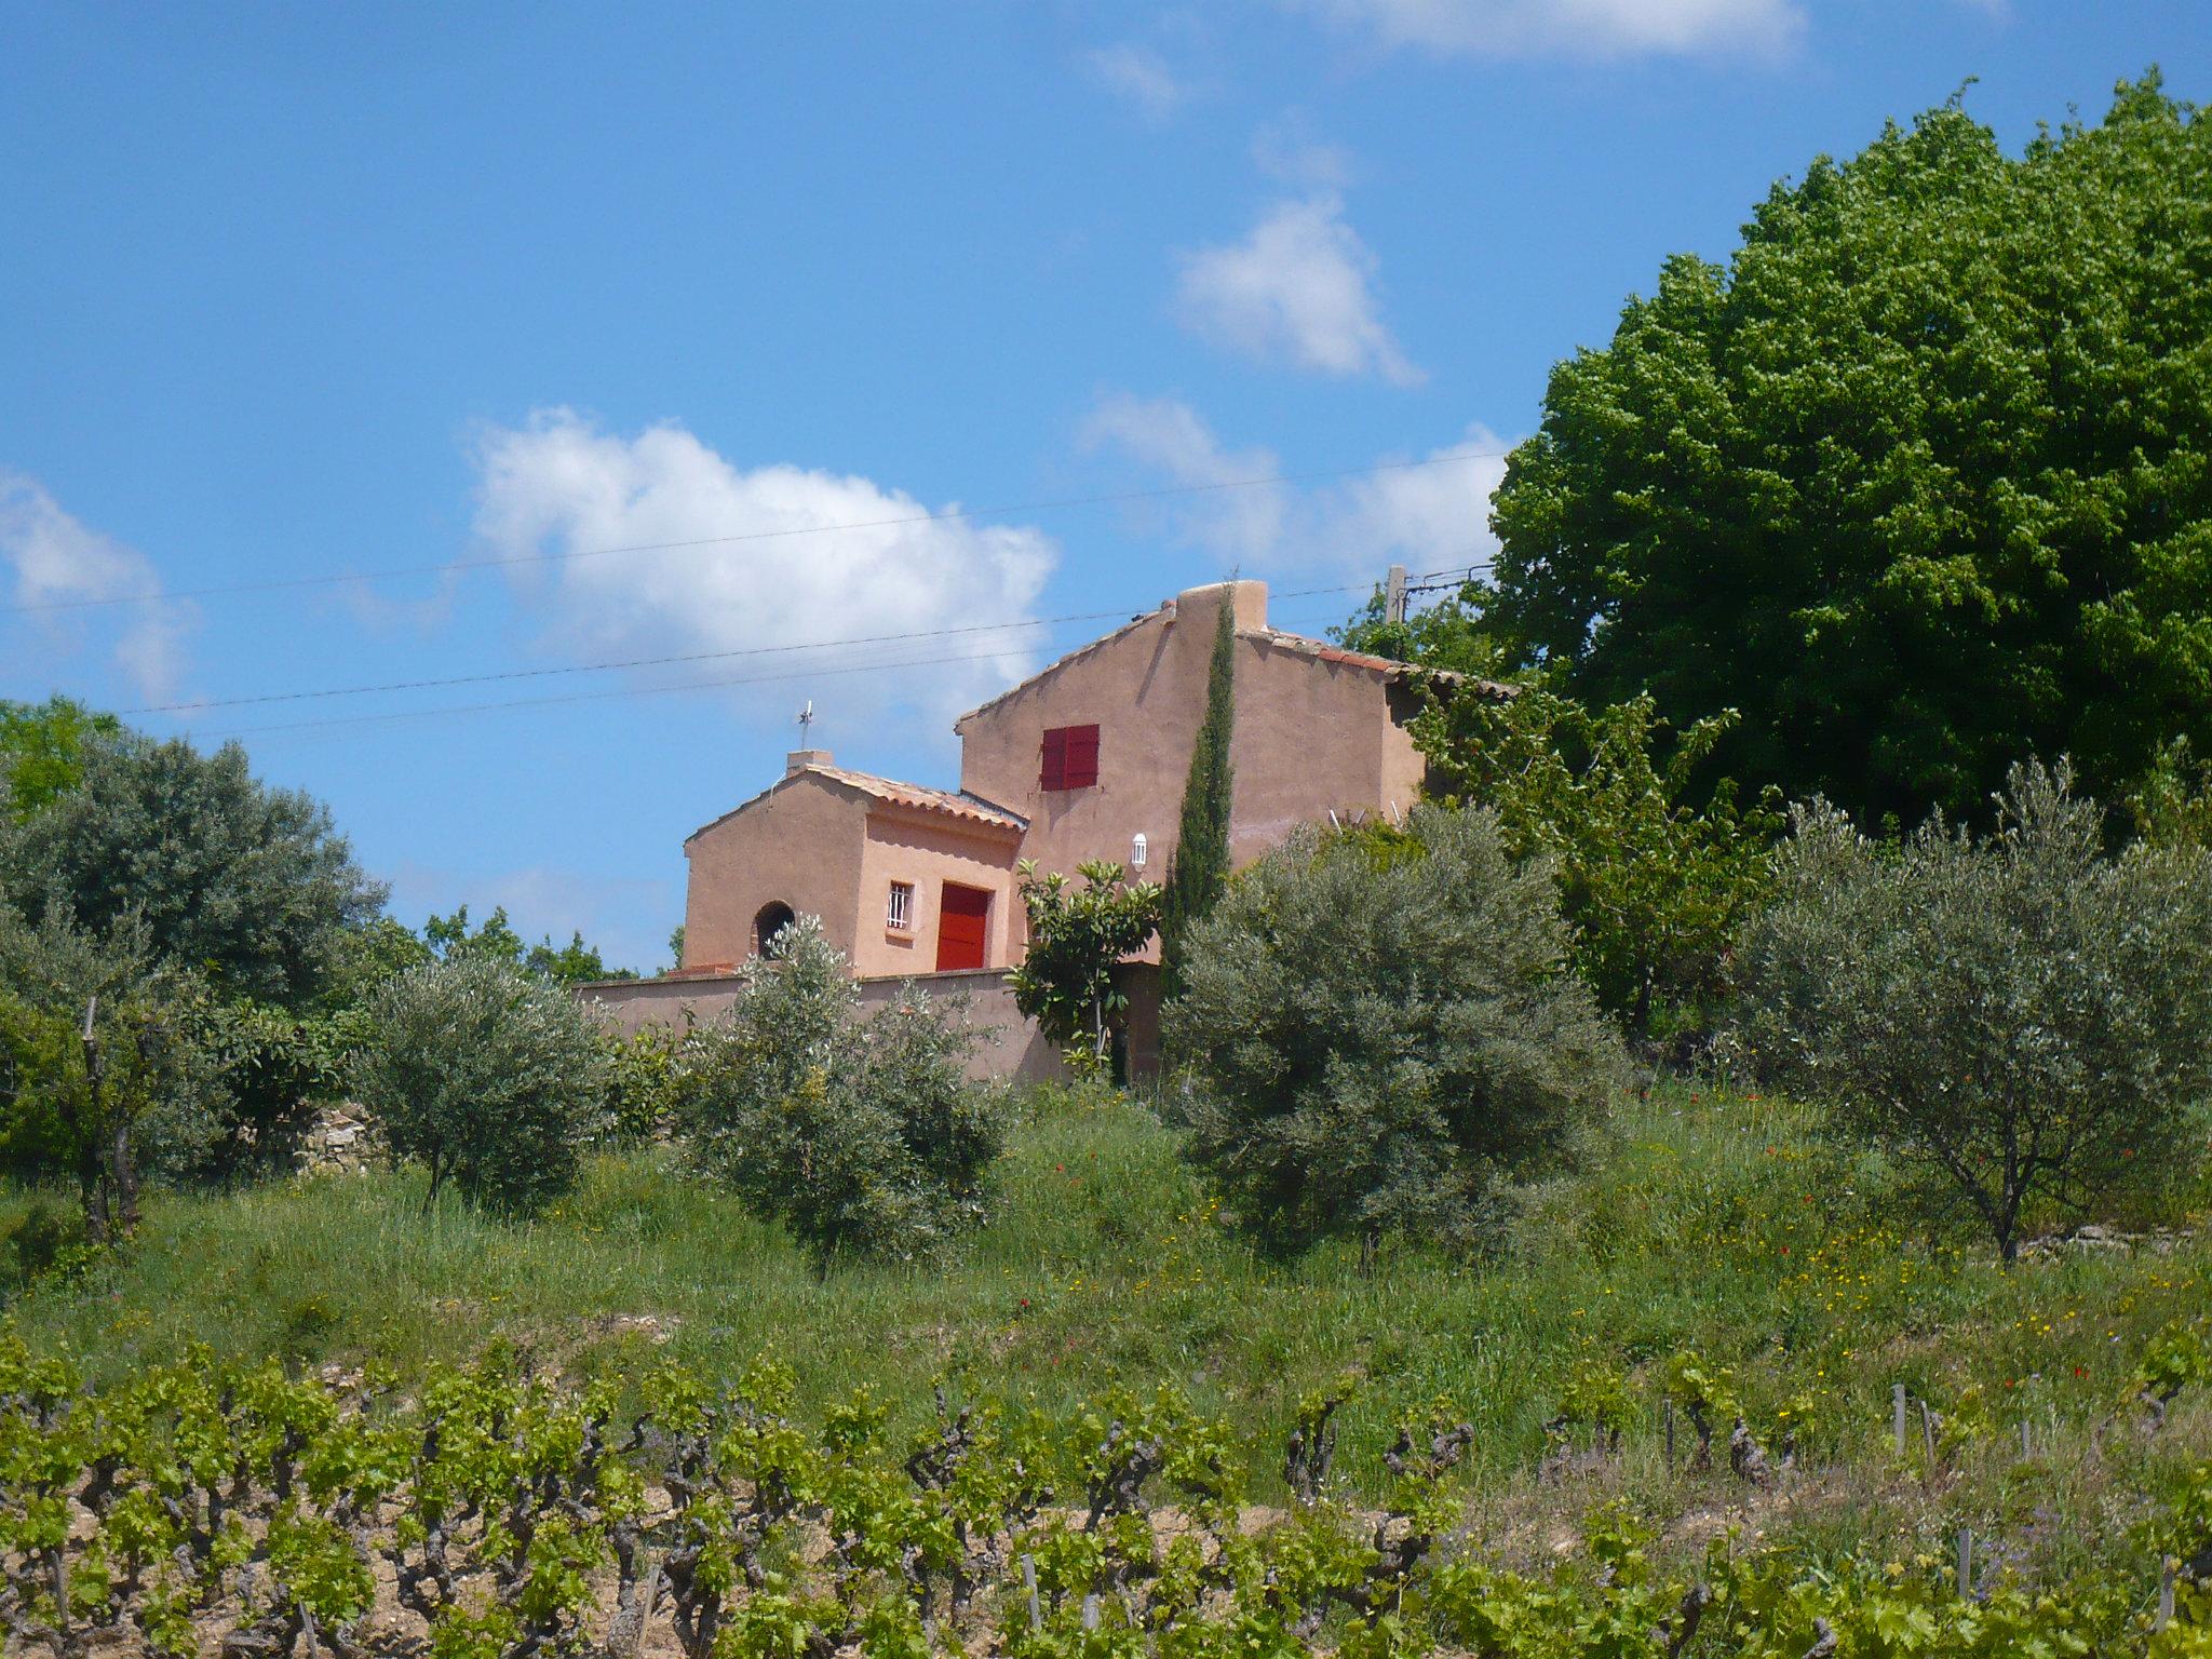
<svg viewBox="0 0 2212 1659">
<path fill-rule="evenodd" d="M 1776 177 L 2208 58 L 2205 0 L 0 0 L 0 697 L 197 703 L 131 719 L 409 922 L 655 967 L 801 701 L 949 783 L 1177 588 L 1318 633 L 1480 560 L 1548 365 Z"/>
</svg>

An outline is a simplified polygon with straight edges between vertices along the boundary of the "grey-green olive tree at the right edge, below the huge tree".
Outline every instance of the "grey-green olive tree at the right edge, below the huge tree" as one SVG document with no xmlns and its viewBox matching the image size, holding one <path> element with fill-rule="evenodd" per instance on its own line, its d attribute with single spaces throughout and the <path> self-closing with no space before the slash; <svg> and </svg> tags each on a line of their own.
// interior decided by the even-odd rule
<svg viewBox="0 0 2212 1659">
<path fill-rule="evenodd" d="M 1798 810 L 1741 958 L 1761 1073 L 1931 1172 L 2004 1261 L 2031 1201 L 2088 1212 L 2168 1166 L 2212 1088 L 2212 854 L 2106 856 L 2070 781 L 2015 765 L 1982 841 Z"/>
</svg>

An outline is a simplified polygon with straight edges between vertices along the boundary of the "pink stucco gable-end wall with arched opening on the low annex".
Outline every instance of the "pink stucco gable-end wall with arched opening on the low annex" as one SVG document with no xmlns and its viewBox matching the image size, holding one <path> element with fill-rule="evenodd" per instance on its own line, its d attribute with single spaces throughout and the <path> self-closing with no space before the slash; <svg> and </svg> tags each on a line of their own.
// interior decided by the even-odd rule
<svg viewBox="0 0 2212 1659">
<path fill-rule="evenodd" d="M 684 843 L 690 858 L 684 967 L 752 956 L 752 918 L 770 900 L 821 916 L 823 933 L 849 956 L 858 938 L 865 825 L 858 790 L 801 772 L 695 834 Z M 880 911 L 874 920 L 880 938 Z"/>
</svg>

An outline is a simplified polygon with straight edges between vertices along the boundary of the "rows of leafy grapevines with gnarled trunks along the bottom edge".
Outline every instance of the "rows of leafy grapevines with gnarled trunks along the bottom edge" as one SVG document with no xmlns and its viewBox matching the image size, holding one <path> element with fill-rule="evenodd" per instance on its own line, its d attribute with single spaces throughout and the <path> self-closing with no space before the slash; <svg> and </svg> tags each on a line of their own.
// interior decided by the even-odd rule
<svg viewBox="0 0 2212 1659">
<path fill-rule="evenodd" d="M 2146 1356 L 2148 1431 L 2212 1376 L 2194 1327 Z M 1710 1471 L 1756 1444 L 1723 1383 L 1670 1371 Z M 86 1396 L 62 1363 L 0 1347 L 0 1546 L 18 1650 L 102 1639 L 192 1655 L 1743 1655 L 2203 1652 L 2212 1469 L 2146 1537 L 2143 1582 L 2033 1586 L 1973 1564 L 1840 1559 L 1717 1535 L 1690 1575 L 1599 1506 L 1584 1553 L 1526 1573 L 1471 1548 L 1449 1405 L 1409 1413 L 1367 1500 L 1332 1480 L 1338 1400 L 1283 1447 L 1287 1511 L 1239 1502 L 1241 1455 L 1172 1387 L 1075 1422 L 951 1405 L 898 1438 L 865 1389 L 803 1427 L 790 1371 L 726 1387 L 679 1367 L 568 1387 L 498 1349 L 416 1389 L 226 1371 L 204 1358 Z M 1617 1394 L 1571 1402 L 1555 1458 L 1617 1455 Z M 1575 1422 L 1575 1418 L 1584 1422 Z M 2139 1433 L 2108 1425 L 2115 1436 Z M 1964 1442 L 1929 1438 L 1927 1480 Z M 1250 1449 L 1245 1449 L 1250 1451 Z M 2179 1584 L 2177 1584 L 2179 1579 Z M 2159 1597 L 2163 1595 L 2163 1601 Z"/>
</svg>

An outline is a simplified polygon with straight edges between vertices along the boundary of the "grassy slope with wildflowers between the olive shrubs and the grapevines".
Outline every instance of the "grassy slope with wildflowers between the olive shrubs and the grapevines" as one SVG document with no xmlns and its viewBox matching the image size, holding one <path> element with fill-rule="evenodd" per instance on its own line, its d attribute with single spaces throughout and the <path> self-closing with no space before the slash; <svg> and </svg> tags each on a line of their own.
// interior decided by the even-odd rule
<svg viewBox="0 0 2212 1659">
<path fill-rule="evenodd" d="M 192 1343 L 407 1374 L 495 1336 L 615 1376 L 655 1354 L 710 1374 L 774 1354 L 801 1398 L 867 1385 L 914 1420 L 940 1380 L 1055 1418 L 1175 1380 L 1256 1449 L 1263 1500 L 1281 1498 L 1272 1449 L 1298 1398 L 1356 1376 L 1340 1458 L 1354 1482 L 1380 1482 L 1398 1411 L 1449 1396 L 1478 1427 L 1486 1526 L 1528 1548 L 1555 1546 L 1562 1517 L 1606 1495 L 1663 1511 L 1683 1537 L 1732 1502 L 1725 1469 L 1719 1486 L 1681 1486 L 1648 1416 L 1566 1500 L 1533 1478 L 1542 1425 L 1582 1367 L 1626 1374 L 1655 1411 L 1659 1365 L 1694 1349 L 1734 1367 L 1754 1422 L 1809 1409 L 1805 1462 L 1820 1473 L 1761 1524 L 1827 1551 L 1966 1509 L 2002 1517 L 2024 1502 L 2020 1422 L 2044 1467 L 2035 1502 L 2117 1526 L 2097 1509 L 2117 1464 L 2090 1429 L 2146 1340 L 2205 1310 L 2203 1206 L 2201 1188 L 2181 1197 L 2163 1252 L 2062 1250 L 2004 1270 L 1971 1234 L 1907 1225 L 1885 1166 L 1823 1144 L 1801 1108 L 1683 1084 L 1624 1097 L 1577 1175 L 1524 1194 L 1493 1259 L 1400 1245 L 1363 1276 L 1354 1248 L 1254 1250 L 1144 1106 L 1048 1093 L 1015 1135 L 995 1219 L 933 1267 L 823 1274 L 655 1150 L 593 1161 L 531 1223 L 425 1210 L 411 1172 L 157 1197 L 126 1256 L 38 1281 L 11 1316 L 95 1383 Z M 1893 1383 L 1986 1418 L 1940 1493 L 1891 1464 Z M 2208 1449 L 2212 1422 L 2185 1409 L 2159 1455 Z M 2046 1528 L 2044 1546 L 2086 1546 L 2068 1537 Z"/>
</svg>

